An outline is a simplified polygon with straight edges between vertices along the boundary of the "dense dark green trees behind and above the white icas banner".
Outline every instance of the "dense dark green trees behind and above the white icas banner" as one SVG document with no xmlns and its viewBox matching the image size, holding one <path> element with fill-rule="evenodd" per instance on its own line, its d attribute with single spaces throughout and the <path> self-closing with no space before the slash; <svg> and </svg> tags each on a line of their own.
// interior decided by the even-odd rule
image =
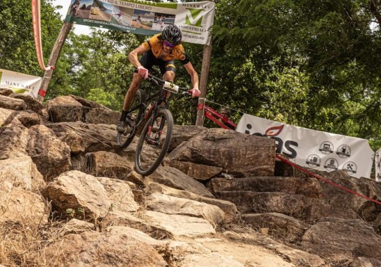
<svg viewBox="0 0 381 267">
<path fill-rule="evenodd" d="M 247 113 L 381 139 L 379 6 L 222 0 L 213 27 L 211 87 L 222 88 L 225 102 Z M 284 84 L 290 73 L 303 83 Z M 210 97 L 220 100 L 213 91 Z M 295 103 L 304 109 L 290 110 Z"/>
</svg>

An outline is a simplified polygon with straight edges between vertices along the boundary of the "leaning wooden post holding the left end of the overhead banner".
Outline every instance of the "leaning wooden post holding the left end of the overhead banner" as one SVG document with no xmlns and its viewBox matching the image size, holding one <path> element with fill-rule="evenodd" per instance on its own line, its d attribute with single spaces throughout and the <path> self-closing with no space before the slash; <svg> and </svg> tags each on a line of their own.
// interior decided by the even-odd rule
<svg viewBox="0 0 381 267">
<path fill-rule="evenodd" d="M 58 56 L 60 55 L 60 51 L 63 47 L 63 44 L 65 43 L 65 40 L 67 38 L 67 35 L 69 34 L 70 30 L 72 29 L 73 23 L 72 22 L 64 22 L 60 34 L 58 35 L 58 38 L 56 40 L 56 43 L 54 44 L 53 50 L 51 50 L 50 58 L 48 60 L 47 65 L 49 66 L 56 66 Z M 53 75 L 54 69 L 46 70 L 44 73 L 44 77 L 42 78 L 41 82 L 41 88 L 38 91 L 38 101 L 43 102 L 47 88 L 49 86 L 49 82 L 51 79 L 51 76 Z"/>
</svg>

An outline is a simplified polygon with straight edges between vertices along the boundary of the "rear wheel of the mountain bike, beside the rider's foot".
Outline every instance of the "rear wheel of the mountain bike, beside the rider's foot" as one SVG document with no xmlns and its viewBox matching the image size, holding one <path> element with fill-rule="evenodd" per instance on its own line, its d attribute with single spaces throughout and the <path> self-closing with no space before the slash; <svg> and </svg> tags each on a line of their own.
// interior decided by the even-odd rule
<svg viewBox="0 0 381 267">
<path fill-rule="evenodd" d="M 143 90 L 138 90 L 133 97 L 133 102 L 130 110 L 133 110 L 133 108 L 136 108 L 140 104 L 144 103 L 145 101 L 145 95 Z M 134 111 L 131 111 L 129 115 L 126 117 L 126 131 L 124 133 L 117 132 L 116 135 L 116 141 L 117 144 L 120 146 L 120 148 L 124 149 L 129 146 L 129 144 L 132 142 L 133 138 L 136 135 L 136 123 L 139 122 L 141 116 L 144 113 L 144 106 L 141 106 L 141 108 L 136 108 Z"/>
</svg>

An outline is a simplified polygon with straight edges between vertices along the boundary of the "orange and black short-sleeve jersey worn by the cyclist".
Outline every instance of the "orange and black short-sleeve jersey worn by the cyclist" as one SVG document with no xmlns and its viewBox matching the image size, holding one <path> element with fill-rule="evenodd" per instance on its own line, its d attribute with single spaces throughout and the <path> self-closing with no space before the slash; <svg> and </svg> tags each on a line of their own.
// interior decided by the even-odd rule
<svg viewBox="0 0 381 267">
<path fill-rule="evenodd" d="M 154 54 L 156 58 L 159 58 L 161 55 L 161 51 L 163 50 L 164 45 L 160 37 L 161 33 L 152 36 L 152 38 L 149 38 L 147 42 L 143 42 L 145 49 L 151 49 L 152 54 Z M 165 58 L 161 59 L 164 61 L 178 59 L 183 65 L 189 62 L 189 59 L 186 57 L 184 47 L 181 44 L 177 44 L 177 46 L 172 49 L 168 56 L 165 56 Z"/>
</svg>

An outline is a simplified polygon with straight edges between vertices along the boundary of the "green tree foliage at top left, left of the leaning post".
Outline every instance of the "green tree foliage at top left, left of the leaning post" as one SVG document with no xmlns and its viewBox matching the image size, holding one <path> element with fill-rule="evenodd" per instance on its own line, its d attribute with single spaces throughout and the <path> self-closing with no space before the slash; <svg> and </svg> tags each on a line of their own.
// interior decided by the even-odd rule
<svg viewBox="0 0 381 267">
<path fill-rule="evenodd" d="M 42 50 L 47 59 L 62 23 L 49 1 L 42 2 Z M 42 76 L 33 38 L 31 1 L 0 1 L 0 67 Z"/>
</svg>

